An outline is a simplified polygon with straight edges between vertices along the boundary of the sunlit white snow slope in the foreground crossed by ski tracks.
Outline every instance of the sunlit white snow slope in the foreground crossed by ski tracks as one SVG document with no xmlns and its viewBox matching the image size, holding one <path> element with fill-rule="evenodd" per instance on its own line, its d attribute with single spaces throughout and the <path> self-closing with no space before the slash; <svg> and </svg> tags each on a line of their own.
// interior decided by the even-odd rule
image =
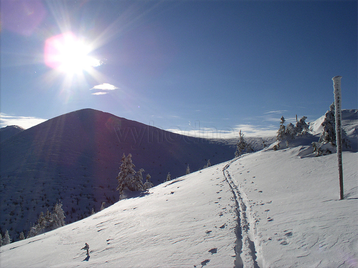
<svg viewBox="0 0 358 268">
<path fill-rule="evenodd" d="M 163 183 L 1 247 L 0 266 L 358 267 L 358 153 L 343 152 L 338 200 L 337 155 L 304 151 L 245 154 Z"/>
</svg>

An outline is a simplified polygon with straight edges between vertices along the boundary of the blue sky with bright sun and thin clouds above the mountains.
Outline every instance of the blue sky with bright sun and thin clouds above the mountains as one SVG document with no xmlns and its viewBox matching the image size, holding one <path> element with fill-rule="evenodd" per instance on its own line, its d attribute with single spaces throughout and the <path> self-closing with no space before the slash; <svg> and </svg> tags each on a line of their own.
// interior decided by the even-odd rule
<svg viewBox="0 0 358 268">
<path fill-rule="evenodd" d="M 357 1 L 1 0 L 1 23 L 1 127 L 93 108 L 273 134 L 282 115 L 324 115 L 337 75 L 342 108 L 358 108 Z M 64 37 L 81 45 L 53 59 Z"/>
</svg>

